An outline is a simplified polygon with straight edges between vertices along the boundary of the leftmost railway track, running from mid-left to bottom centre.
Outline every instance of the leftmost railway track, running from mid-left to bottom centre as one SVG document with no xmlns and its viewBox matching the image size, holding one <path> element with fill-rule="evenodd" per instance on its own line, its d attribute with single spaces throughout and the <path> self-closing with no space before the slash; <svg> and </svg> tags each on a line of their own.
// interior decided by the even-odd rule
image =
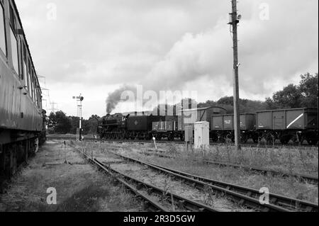
<svg viewBox="0 0 319 226">
<path fill-rule="evenodd" d="M 74 149 L 77 149 L 77 147 L 74 147 L 73 145 L 70 146 Z M 108 174 L 109 176 L 112 176 L 113 179 L 116 180 L 118 183 L 123 184 L 126 188 L 130 189 L 130 191 L 133 191 L 133 193 L 145 200 L 145 202 L 147 203 L 147 208 L 151 211 L 169 212 L 172 210 L 187 210 L 193 212 L 218 212 L 218 210 L 215 210 L 208 205 L 198 203 L 194 200 L 189 200 L 188 198 L 178 196 L 174 193 L 169 193 L 168 191 L 162 190 L 162 188 L 158 188 L 157 186 L 153 186 L 131 176 L 122 174 L 121 172 L 116 171 L 115 169 L 112 169 L 111 167 L 99 162 L 99 160 L 89 157 L 85 152 L 81 152 L 81 150 L 79 149 L 77 150 L 81 154 L 83 154 L 84 158 L 88 159 L 91 164 L 94 164 L 101 171 Z M 143 193 L 142 190 L 146 192 Z M 164 207 L 164 205 L 159 203 L 159 201 L 154 200 L 154 198 L 152 198 L 150 194 L 156 194 L 157 196 L 160 196 L 161 200 L 167 200 L 168 202 L 170 202 L 170 205 L 174 207 L 172 208 L 172 210 Z"/>
</svg>

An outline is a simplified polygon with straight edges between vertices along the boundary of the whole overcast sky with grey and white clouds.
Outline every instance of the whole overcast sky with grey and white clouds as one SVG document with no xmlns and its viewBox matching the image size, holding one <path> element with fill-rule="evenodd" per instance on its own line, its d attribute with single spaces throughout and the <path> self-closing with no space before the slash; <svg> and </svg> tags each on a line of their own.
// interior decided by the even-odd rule
<svg viewBox="0 0 319 226">
<path fill-rule="evenodd" d="M 68 115 L 77 114 L 72 96 L 80 93 L 85 118 L 105 115 L 108 94 L 124 84 L 198 91 L 198 101 L 233 95 L 230 1 L 16 4 L 50 101 Z M 318 72 L 318 0 L 240 0 L 238 10 L 241 98 L 264 100 Z M 114 112 L 130 108 L 123 103 Z"/>
</svg>

